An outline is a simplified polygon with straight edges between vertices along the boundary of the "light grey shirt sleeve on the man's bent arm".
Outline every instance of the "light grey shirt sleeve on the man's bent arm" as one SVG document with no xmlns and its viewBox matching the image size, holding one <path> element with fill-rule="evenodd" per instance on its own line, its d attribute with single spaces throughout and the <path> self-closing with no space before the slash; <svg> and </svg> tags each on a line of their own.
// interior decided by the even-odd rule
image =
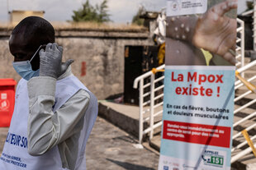
<svg viewBox="0 0 256 170">
<path fill-rule="evenodd" d="M 28 81 L 29 108 L 28 152 L 31 155 L 45 154 L 49 149 L 81 131 L 76 126 L 88 108 L 90 95 L 78 90 L 64 105 L 55 111 L 56 80 L 39 76 Z"/>
</svg>

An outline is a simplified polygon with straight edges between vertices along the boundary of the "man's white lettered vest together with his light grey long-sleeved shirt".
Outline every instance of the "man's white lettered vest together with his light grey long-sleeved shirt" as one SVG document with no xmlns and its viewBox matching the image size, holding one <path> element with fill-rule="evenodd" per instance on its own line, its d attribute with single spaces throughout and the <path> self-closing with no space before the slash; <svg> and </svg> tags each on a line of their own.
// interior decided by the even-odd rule
<svg viewBox="0 0 256 170">
<path fill-rule="evenodd" d="M 96 117 L 96 97 L 70 68 L 57 82 L 21 79 L 0 169 L 86 169 L 84 152 Z"/>
</svg>

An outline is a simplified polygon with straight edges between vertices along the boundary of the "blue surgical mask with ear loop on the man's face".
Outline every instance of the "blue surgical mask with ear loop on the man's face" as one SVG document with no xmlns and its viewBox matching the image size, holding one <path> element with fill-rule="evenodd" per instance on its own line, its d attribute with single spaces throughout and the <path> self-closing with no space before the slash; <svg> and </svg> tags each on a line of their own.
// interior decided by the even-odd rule
<svg viewBox="0 0 256 170">
<path fill-rule="evenodd" d="M 36 50 L 36 53 L 40 50 L 40 47 Z M 17 73 L 25 80 L 30 80 L 34 76 L 39 76 L 39 69 L 36 71 L 32 70 L 31 61 L 36 56 L 36 53 L 31 57 L 30 61 L 22 61 L 22 62 L 12 62 L 13 68 L 17 71 Z"/>
</svg>

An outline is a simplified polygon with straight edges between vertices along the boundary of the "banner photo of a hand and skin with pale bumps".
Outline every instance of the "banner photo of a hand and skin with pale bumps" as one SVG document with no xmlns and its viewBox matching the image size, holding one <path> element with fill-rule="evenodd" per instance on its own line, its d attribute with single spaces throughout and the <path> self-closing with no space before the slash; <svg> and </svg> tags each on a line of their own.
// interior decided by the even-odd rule
<svg viewBox="0 0 256 170">
<path fill-rule="evenodd" d="M 167 17 L 166 65 L 235 65 L 237 3 L 211 0 L 207 8 L 203 14 Z"/>
</svg>

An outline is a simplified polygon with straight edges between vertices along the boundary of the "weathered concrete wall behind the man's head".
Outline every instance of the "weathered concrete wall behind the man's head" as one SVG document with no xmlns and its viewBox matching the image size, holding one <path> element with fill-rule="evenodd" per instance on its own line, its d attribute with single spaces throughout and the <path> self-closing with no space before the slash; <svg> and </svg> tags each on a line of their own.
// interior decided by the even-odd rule
<svg viewBox="0 0 256 170">
<path fill-rule="evenodd" d="M 8 49 L 11 30 L 0 30 L 0 78 L 20 77 L 12 68 Z M 98 99 L 124 90 L 124 47 L 152 44 L 146 30 L 57 30 L 56 41 L 64 47 L 64 61 L 71 58 L 73 74 Z"/>
</svg>

